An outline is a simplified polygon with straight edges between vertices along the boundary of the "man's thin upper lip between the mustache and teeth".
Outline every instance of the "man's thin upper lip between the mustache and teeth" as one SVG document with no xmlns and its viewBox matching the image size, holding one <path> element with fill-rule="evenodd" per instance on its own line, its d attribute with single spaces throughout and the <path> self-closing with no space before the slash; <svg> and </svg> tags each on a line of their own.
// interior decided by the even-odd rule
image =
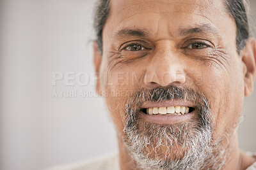
<svg viewBox="0 0 256 170">
<path fill-rule="evenodd" d="M 159 102 L 146 102 L 142 104 L 141 108 L 159 108 L 159 107 L 169 107 L 169 106 L 185 106 L 189 108 L 195 108 L 194 104 L 188 101 L 159 101 Z"/>
</svg>

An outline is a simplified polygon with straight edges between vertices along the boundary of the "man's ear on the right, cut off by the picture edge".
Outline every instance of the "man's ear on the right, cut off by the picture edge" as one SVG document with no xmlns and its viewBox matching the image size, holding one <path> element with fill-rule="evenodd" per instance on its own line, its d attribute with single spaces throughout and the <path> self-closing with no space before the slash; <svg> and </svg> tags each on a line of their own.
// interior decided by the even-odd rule
<svg viewBox="0 0 256 170">
<path fill-rule="evenodd" d="M 256 42 L 254 38 L 247 39 L 241 56 L 244 62 L 244 96 L 250 96 L 253 92 L 253 81 L 256 75 Z"/>
</svg>

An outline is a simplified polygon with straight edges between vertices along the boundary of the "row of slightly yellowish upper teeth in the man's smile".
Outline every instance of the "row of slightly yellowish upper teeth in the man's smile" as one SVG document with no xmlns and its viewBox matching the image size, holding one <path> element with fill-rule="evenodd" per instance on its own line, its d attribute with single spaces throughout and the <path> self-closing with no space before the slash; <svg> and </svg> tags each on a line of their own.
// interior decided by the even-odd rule
<svg viewBox="0 0 256 170">
<path fill-rule="evenodd" d="M 159 108 L 147 108 L 148 115 L 184 115 L 189 113 L 189 108 L 185 106 L 169 106 Z"/>
</svg>

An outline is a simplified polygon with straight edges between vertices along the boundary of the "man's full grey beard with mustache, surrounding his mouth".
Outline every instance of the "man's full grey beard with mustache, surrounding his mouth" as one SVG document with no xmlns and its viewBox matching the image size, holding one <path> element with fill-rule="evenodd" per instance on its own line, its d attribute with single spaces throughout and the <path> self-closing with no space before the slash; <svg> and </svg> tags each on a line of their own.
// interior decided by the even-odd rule
<svg viewBox="0 0 256 170">
<path fill-rule="evenodd" d="M 145 122 L 138 117 L 145 101 L 191 101 L 198 115 L 175 125 Z M 141 89 L 127 101 L 124 144 L 134 160 L 132 169 L 221 169 L 227 148 L 212 140 L 214 121 L 202 93 L 179 87 Z"/>
</svg>

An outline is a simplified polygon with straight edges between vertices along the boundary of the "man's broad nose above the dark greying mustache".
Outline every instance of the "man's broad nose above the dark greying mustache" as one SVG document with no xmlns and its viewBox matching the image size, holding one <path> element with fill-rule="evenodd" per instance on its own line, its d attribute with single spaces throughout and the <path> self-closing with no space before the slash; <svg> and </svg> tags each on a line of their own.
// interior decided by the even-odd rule
<svg viewBox="0 0 256 170">
<path fill-rule="evenodd" d="M 152 56 L 143 80 L 145 85 L 152 88 L 182 85 L 186 82 L 184 64 L 172 50 L 159 50 Z"/>
</svg>

